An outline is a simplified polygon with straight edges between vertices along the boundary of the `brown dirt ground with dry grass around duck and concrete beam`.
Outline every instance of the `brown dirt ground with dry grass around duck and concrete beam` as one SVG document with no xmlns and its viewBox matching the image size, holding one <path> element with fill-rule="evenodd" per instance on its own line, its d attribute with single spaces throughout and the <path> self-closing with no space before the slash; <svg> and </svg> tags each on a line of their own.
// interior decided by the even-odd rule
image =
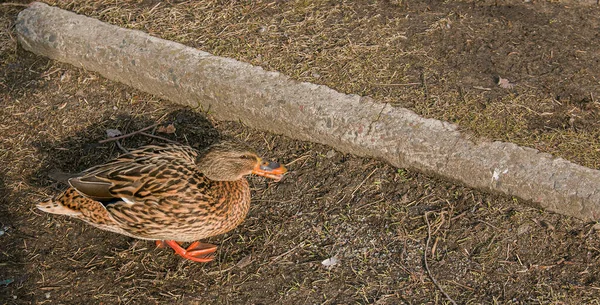
<svg viewBox="0 0 600 305">
<path fill-rule="evenodd" d="M 499 4 L 502 3 L 502 4 Z M 62 7 L 600 168 L 597 6 L 565 1 L 73 1 Z M 217 122 L 18 47 L 0 5 L 1 304 L 599 304 L 600 233 L 378 160 Z M 502 77 L 514 83 L 501 88 Z M 510 86 L 509 86 L 510 87 Z M 208 264 L 34 208 L 115 157 L 106 129 L 246 141 L 290 169 Z M 146 136 L 125 147 L 160 142 Z M 336 258 L 326 267 L 322 262 Z M 427 262 L 427 266 L 425 264 Z M 432 278 L 440 287 L 436 287 Z M 441 288 L 441 289 L 440 289 Z M 444 296 L 444 293 L 448 297 Z"/>
</svg>

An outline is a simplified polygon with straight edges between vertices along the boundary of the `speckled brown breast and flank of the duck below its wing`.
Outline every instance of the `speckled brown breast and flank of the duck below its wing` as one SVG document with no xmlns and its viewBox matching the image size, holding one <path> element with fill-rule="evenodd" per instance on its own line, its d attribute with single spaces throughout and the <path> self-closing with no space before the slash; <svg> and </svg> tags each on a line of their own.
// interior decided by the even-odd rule
<svg viewBox="0 0 600 305">
<path fill-rule="evenodd" d="M 228 232 L 246 217 L 246 179 L 211 181 L 201 174 L 134 204 L 107 205 L 123 230 L 138 238 L 194 241 Z"/>
</svg>

